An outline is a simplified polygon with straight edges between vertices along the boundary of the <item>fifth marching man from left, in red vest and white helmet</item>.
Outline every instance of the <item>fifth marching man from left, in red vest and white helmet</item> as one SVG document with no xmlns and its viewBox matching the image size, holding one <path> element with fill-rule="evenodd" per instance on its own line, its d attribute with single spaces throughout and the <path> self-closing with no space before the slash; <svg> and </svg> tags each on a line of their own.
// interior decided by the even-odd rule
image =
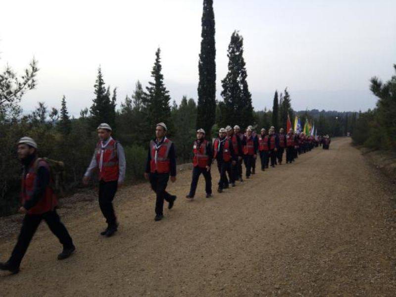
<svg viewBox="0 0 396 297">
<path fill-rule="evenodd" d="M 217 168 L 220 173 L 218 193 L 229 187 L 226 172 L 230 170 L 231 164 L 237 163 L 237 157 L 234 153 L 231 139 L 227 137 L 226 129 L 219 130 L 219 138 L 213 144 L 213 159 L 217 161 Z"/>
</svg>

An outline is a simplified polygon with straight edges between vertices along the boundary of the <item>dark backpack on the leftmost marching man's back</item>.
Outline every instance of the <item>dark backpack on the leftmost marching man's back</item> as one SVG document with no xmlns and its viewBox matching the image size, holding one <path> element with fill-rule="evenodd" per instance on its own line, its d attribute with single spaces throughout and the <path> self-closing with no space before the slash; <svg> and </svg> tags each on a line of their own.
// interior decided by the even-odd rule
<svg viewBox="0 0 396 297">
<path fill-rule="evenodd" d="M 66 181 L 65 164 L 62 161 L 56 161 L 49 158 L 37 158 L 34 165 L 36 173 L 40 161 L 45 161 L 49 166 L 49 187 L 57 197 L 63 197 Z"/>
</svg>

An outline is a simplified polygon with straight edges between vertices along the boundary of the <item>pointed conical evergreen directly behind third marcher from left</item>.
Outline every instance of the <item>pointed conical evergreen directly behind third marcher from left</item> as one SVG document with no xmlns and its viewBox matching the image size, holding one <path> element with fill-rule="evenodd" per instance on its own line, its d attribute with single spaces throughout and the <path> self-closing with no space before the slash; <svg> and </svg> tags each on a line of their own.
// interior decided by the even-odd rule
<svg viewBox="0 0 396 297">
<path fill-rule="evenodd" d="M 152 135 L 153 126 L 159 122 L 164 122 L 170 133 L 172 133 L 173 126 L 169 105 L 170 96 L 164 85 L 160 53 L 161 50 L 158 48 L 155 52 L 155 62 L 151 71 L 153 82 L 148 83 L 147 94 L 145 94 L 145 114 L 149 125 L 147 127 L 149 135 Z"/>
</svg>

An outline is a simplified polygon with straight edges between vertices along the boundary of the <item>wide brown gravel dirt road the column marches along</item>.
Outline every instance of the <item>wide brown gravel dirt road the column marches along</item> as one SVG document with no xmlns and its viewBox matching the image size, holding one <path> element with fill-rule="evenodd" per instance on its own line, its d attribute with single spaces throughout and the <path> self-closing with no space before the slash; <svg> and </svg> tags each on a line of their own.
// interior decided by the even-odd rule
<svg viewBox="0 0 396 297">
<path fill-rule="evenodd" d="M 259 171 L 210 199 L 203 179 L 195 200 L 184 198 L 184 171 L 168 188 L 178 199 L 161 222 L 147 184 L 124 188 L 113 238 L 99 235 L 95 201 L 63 208 L 77 252 L 57 261 L 61 247 L 43 223 L 21 272 L 1 274 L 0 295 L 396 296 L 392 192 L 349 142 Z M 0 244 L 1 260 L 15 237 Z"/>
</svg>

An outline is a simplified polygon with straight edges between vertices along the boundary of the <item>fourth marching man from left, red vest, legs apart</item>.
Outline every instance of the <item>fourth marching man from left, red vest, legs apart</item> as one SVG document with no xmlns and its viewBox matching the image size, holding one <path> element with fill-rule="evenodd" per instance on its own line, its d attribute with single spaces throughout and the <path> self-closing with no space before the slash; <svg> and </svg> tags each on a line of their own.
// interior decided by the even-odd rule
<svg viewBox="0 0 396 297">
<path fill-rule="evenodd" d="M 205 140 L 205 131 L 203 129 L 197 130 L 197 140 L 194 142 L 193 153 L 193 180 L 190 193 L 186 198 L 194 198 L 200 174 L 205 178 L 206 198 L 209 198 L 212 196 L 212 177 L 210 175 L 212 145 L 211 142 Z"/>
</svg>

